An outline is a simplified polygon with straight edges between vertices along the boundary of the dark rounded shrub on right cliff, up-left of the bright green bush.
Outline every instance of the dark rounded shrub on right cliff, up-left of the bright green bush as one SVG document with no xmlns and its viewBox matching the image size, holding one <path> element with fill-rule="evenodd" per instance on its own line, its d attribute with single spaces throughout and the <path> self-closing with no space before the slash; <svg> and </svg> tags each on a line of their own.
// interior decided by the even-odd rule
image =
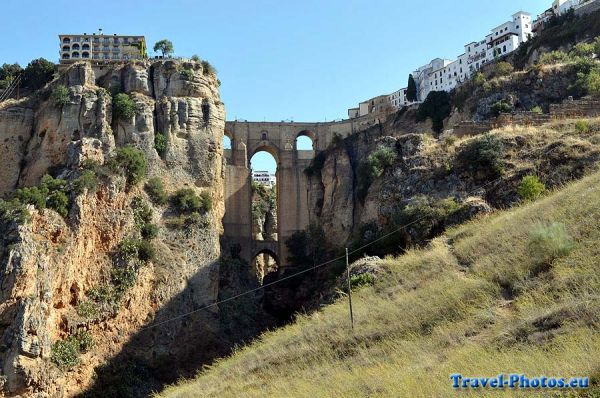
<svg viewBox="0 0 600 398">
<path fill-rule="evenodd" d="M 503 173 L 504 145 L 497 137 L 486 134 L 468 142 L 459 151 L 457 160 L 464 168 L 484 176 L 498 177 Z"/>
</svg>

